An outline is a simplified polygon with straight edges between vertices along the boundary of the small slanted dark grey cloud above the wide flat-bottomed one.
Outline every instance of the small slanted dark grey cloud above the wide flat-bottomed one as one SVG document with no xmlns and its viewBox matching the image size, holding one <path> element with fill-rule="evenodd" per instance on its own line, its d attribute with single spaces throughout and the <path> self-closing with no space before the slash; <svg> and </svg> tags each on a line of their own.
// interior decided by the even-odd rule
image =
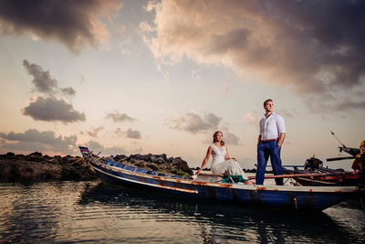
<svg viewBox="0 0 365 244">
<path fill-rule="evenodd" d="M 29 75 L 34 77 L 32 83 L 35 85 L 37 91 L 50 94 L 57 89 L 58 81 L 50 77 L 49 71 L 43 71 L 42 67 L 36 64 L 31 64 L 27 60 L 23 60 L 23 65 Z"/>
</svg>

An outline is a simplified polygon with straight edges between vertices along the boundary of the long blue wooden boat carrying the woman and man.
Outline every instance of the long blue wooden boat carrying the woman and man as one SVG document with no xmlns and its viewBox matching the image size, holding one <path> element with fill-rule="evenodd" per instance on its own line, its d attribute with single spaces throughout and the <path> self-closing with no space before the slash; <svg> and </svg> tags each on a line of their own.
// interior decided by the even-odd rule
<svg viewBox="0 0 365 244">
<path fill-rule="evenodd" d="M 140 187 L 175 196 L 216 200 L 240 206 L 294 210 L 323 210 L 363 189 L 360 186 L 254 186 L 193 179 L 151 171 L 92 154 L 80 146 L 81 154 L 99 177 L 111 184 Z"/>
</svg>

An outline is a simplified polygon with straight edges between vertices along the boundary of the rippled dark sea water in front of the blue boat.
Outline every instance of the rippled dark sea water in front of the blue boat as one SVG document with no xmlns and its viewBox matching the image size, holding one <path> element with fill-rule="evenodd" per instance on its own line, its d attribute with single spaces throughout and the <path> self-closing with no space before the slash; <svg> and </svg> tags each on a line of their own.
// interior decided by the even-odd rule
<svg viewBox="0 0 365 244">
<path fill-rule="evenodd" d="M 0 184 L 0 242 L 364 243 L 356 200 L 302 214 L 95 182 Z"/>
</svg>

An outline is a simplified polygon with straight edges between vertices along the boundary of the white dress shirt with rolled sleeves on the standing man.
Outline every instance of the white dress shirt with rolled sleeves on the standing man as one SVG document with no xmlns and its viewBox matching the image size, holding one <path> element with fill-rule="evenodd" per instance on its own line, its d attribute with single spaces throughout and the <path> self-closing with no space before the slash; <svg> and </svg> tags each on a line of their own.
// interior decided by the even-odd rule
<svg viewBox="0 0 365 244">
<path fill-rule="evenodd" d="M 268 118 L 264 114 L 264 118 L 260 120 L 260 135 L 261 140 L 277 139 L 280 133 L 287 133 L 283 117 L 275 112 L 271 113 Z"/>
</svg>

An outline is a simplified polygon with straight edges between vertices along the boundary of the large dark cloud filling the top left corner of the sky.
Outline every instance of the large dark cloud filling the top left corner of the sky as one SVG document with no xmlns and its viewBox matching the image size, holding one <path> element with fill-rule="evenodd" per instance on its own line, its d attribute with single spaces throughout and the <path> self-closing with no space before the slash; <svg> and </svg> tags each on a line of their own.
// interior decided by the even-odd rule
<svg viewBox="0 0 365 244">
<path fill-rule="evenodd" d="M 118 0 L 0 1 L 0 30 L 5 35 L 29 35 L 57 40 L 74 53 L 89 44 L 108 45 L 109 32 L 100 16 L 120 10 Z"/>
</svg>

